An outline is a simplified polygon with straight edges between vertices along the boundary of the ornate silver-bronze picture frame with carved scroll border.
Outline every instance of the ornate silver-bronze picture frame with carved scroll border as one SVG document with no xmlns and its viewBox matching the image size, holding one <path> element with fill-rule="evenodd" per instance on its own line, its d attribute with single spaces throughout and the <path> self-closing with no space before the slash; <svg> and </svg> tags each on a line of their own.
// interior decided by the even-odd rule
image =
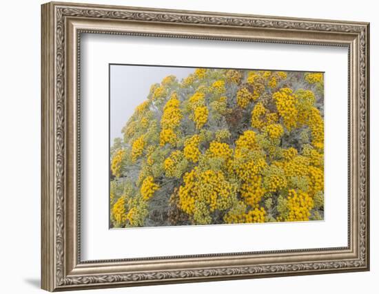
<svg viewBox="0 0 379 294">
<path fill-rule="evenodd" d="M 46 3 L 41 30 L 43 289 L 369 270 L 369 23 Z M 82 262 L 78 103 L 82 32 L 349 48 L 348 246 Z"/>
</svg>

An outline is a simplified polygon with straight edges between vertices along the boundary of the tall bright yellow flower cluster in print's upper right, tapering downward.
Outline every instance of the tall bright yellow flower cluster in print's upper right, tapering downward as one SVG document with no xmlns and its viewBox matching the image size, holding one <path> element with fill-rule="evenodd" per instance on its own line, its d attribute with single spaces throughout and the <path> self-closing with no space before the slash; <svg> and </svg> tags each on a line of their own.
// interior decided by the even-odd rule
<svg viewBox="0 0 379 294">
<path fill-rule="evenodd" d="M 298 109 L 296 109 L 296 98 L 292 95 L 292 90 L 282 88 L 272 96 L 276 101 L 276 108 L 281 117 L 283 117 L 285 127 L 291 130 L 296 127 L 296 118 Z"/>
</svg>

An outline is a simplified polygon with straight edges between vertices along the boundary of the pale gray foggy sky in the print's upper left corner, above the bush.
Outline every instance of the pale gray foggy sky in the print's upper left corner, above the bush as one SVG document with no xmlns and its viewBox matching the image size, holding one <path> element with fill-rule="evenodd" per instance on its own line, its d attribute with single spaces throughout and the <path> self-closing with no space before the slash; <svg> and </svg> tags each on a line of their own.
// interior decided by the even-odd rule
<svg viewBox="0 0 379 294">
<path fill-rule="evenodd" d="M 110 66 L 110 145 L 121 137 L 121 129 L 134 113 L 137 105 L 145 101 L 154 83 L 161 83 L 173 74 L 181 81 L 194 72 L 189 67 L 158 67 L 141 65 Z"/>
</svg>

